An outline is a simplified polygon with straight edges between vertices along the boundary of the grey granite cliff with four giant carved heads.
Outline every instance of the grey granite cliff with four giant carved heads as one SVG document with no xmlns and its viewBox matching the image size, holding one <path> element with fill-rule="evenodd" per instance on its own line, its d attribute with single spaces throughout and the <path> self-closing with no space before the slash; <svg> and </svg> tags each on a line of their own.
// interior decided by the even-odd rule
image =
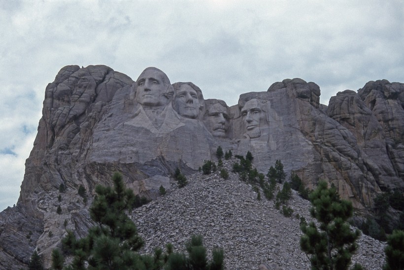
<svg viewBox="0 0 404 270">
<path fill-rule="evenodd" d="M 66 226 L 86 233 L 90 202 L 80 186 L 91 201 L 120 171 L 135 193 L 155 199 L 176 167 L 194 173 L 218 146 L 250 151 L 264 173 L 280 159 L 309 188 L 326 179 L 362 211 L 387 187 L 403 190 L 404 84 L 370 81 L 328 106 L 319 97 L 317 84 L 294 78 L 229 107 L 156 68 L 133 81 L 106 66 L 64 67 L 46 87 L 17 206 L 0 213 L 1 265 L 18 269 L 35 248 L 49 254 Z"/>
</svg>

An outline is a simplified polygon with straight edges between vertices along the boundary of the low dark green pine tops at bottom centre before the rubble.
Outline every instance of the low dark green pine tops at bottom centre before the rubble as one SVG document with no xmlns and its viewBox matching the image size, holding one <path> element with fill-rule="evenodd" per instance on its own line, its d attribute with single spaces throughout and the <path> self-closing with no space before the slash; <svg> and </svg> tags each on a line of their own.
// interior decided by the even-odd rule
<svg viewBox="0 0 404 270">
<path fill-rule="evenodd" d="M 206 249 L 203 246 L 202 236 L 192 235 L 185 244 L 188 257 L 182 253 L 168 252 L 165 270 L 223 270 L 224 252 L 222 249 L 213 249 L 212 260 L 207 261 Z"/>
</svg>

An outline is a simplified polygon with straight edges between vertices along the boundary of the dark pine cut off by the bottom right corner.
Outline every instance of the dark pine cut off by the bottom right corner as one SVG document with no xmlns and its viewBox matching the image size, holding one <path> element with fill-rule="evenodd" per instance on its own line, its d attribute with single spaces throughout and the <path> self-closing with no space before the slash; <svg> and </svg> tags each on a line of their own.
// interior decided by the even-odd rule
<svg viewBox="0 0 404 270">
<path fill-rule="evenodd" d="M 404 231 L 394 230 L 387 236 L 387 246 L 384 249 L 386 264 L 383 270 L 404 269 Z"/>
</svg>

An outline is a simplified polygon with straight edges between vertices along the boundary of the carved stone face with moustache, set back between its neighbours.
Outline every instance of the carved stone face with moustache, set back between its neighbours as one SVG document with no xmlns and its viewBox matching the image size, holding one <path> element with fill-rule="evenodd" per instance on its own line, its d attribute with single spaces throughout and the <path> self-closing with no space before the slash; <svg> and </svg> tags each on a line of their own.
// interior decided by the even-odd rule
<svg viewBox="0 0 404 270">
<path fill-rule="evenodd" d="M 220 103 L 212 104 L 207 108 L 203 122 L 213 136 L 227 137 L 229 116 L 227 114 L 227 108 Z"/>
</svg>

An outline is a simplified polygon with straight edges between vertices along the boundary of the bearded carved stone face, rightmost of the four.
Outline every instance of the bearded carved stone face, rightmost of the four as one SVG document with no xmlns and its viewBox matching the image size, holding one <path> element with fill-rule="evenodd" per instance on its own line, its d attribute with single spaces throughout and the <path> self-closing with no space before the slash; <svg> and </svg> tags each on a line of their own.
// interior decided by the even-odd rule
<svg viewBox="0 0 404 270">
<path fill-rule="evenodd" d="M 261 110 L 257 99 L 247 101 L 241 109 L 241 116 L 247 135 L 250 138 L 257 138 L 261 136 L 260 125 L 265 117 L 264 112 Z"/>
</svg>

